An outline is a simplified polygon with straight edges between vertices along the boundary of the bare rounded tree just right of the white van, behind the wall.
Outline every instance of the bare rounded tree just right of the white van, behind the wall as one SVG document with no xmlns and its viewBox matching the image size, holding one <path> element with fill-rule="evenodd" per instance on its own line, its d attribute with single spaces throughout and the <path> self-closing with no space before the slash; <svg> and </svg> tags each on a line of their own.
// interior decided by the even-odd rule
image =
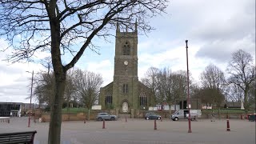
<svg viewBox="0 0 256 144">
<path fill-rule="evenodd" d="M 226 86 L 222 70 L 213 64 L 206 66 L 206 69 L 201 74 L 201 82 L 204 87 L 203 90 L 210 97 L 212 104 L 220 107 L 224 101 L 223 89 Z"/>
</svg>

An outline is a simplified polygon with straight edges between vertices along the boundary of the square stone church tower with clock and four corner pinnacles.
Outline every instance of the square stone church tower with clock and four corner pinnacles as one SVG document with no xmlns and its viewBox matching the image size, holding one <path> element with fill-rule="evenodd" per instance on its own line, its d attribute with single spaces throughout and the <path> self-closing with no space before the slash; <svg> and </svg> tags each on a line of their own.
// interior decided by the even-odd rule
<svg viewBox="0 0 256 144">
<path fill-rule="evenodd" d="M 113 99 L 122 112 L 137 108 L 138 98 L 138 32 L 120 32 L 117 25 L 114 56 Z M 120 106 L 120 104 L 122 106 Z"/>
</svg>

